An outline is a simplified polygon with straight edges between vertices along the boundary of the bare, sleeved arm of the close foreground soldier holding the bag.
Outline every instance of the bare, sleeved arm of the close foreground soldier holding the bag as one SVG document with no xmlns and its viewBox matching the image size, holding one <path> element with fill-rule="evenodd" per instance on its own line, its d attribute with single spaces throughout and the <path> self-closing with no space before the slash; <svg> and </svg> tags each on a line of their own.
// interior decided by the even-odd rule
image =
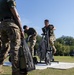
<svg viewBox="0 0 74 75">
<path fill-rule="evenodd" d="M 18 12 L 17 12 L 17 9 L 16 9 L 16 3 L 15 3 L 14 0 L 7 0 L 7 2 L 8 2 L 8 6 L 9 6 L 9 8 L 10 8 L 12 14 L 13 14 L 13 17 L 14 17 L 14 19 L 15 19 L 15 22 L 16 22 L 16 24 L 19 26 L 20 31 L 21 31 L 21 33 L 22 33 L 22 36 L 24 37 L 24 33 L 23 33 L 23 31 L 22 31 L 21 19 L 20 19 L 20 17 L 19 17 L 19 14 L 18 14 Z"/>
</svg>

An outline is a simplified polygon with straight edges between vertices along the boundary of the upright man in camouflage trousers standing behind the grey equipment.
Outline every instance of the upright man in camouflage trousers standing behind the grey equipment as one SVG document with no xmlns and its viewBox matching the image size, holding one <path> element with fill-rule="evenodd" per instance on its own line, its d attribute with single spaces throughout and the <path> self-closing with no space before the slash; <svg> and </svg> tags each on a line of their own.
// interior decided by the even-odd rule
<svg viewBox="0 0 74 75">
<path fill-rule="evenodd" d="M 55 41 L 55 35 L 54 35 L 54 30 L 55 30 L 55 27 L 51 24 L 49 24 L 49 20 L 45 20 L 44 21 L 45 23 L 45 26 L 42 28 L 42 31 L 44 34 L 46 34 L 46 31 L 49 30 L 49 43 L 50 45 L 52 46 L 52 48 L 54 49 L 54 53 L 56 53 L 56 48 L 54 46 L 54 41 Z"/>
</svg>

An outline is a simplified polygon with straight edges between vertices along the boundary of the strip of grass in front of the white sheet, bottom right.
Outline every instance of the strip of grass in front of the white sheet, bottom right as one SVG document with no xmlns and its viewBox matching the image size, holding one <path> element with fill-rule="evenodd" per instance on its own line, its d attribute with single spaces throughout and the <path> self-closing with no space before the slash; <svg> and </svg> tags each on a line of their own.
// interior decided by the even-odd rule
<svg viewBox="0 0 74 75">
<path fill-rule="evenodd" d="M 57 70 L 57 69 L 36 70 L 36 71 L 30 72 L 29 75 L 74 75 L 74 69 L 70 69 L 70 70 Z"/>
</svg>

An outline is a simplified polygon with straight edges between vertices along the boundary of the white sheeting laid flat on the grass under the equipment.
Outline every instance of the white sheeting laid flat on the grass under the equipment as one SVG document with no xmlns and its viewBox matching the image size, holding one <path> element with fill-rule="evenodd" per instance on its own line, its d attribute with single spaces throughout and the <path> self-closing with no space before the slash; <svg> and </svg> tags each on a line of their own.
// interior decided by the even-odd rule
<svg viewBox="0 0 74 75">
<path fill-rule="evenodd" d="M 10 62 L 5 62 L 4 66 L 11 66 Z M 42 70 L 42 69 L 47 69 L 47 68 L 54 68 L 54 69 L 70 69 L 74 68 L 74 63 L 67 63 L 67 62 L 52 62 L 51 65 L 46 65 L 46 64 L 37 64 L 36 69 Z"/>
</svg>

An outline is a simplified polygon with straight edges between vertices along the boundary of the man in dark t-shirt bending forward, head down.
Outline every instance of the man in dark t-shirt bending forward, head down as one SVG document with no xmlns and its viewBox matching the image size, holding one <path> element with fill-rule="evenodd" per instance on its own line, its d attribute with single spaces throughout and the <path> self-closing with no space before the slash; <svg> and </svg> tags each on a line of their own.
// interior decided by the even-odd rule
<svg viewBox="0 0 74 75">
<path fill-rule="evenodd" d="M 29 28 L 26 25 L 23 26 L 23 29 L 24 29 L 24 33 L 26 33 L 28 35 L 27 41 L 30 42 L 31 54 L 32 54 L 32 56 L 34 56 L 34 46 L 36 44 L 37 32 L 34 28 Z"/>
</svg>

